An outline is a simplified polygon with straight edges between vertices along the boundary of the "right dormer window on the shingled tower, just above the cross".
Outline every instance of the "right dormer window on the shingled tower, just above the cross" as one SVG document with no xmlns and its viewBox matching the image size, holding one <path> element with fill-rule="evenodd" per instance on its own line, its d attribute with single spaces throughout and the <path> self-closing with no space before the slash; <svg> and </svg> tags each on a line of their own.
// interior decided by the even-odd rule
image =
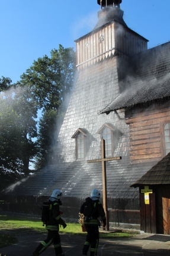
<svg viewBox="0 0 170 256">
<path fill-rule="evenodd" d="M 105 123 L 97 133 L 105 140 L 105 157 L 113 157 L 121 132 L 113 124 Z"/>
</svg>

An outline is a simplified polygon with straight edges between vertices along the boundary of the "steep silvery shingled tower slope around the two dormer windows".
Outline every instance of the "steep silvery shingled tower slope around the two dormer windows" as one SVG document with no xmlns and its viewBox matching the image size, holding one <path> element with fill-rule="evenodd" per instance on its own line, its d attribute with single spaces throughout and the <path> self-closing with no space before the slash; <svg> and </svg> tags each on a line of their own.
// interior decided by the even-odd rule
<svg viewBox="0 0 170 256">
<path fill-rule="evenodd" d="M 114 156 L 120 152 L 121 156 L 127 155 L 129 126 L 124 123 L 124 120 L 119 120 L 115 113 L 110 115 L 97 114 L 119 93 L 117 57 L 108 58 L 107 61 L 100 61 L 79 71 L 78 81 L 57 139 L 56 154 L 60 156 L 60 161 L 76 161 L 75 139 L 72 138 L 72 135 L 79 128 L 88 130 L 96 139 L 91 145 L 93 151 L 89 149 L 87 159 L 100 157 L 100 135 L 97 132 L 104 123 L 114 124 L 124 135 L 120 140 L 121 147 Z M 124 118 L 123 111 L 119 111 L 119 114 L 120 117 Z"/>
</svg>

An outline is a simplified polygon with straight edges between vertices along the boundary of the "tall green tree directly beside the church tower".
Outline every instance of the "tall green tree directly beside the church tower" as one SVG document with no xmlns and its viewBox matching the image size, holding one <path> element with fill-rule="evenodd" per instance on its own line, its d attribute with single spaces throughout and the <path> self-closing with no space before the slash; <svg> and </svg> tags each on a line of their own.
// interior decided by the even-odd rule
<svg viewBox="0 0 170 256">
<path fill-rule="evenodd" d="M 74 74 L 73 48 L 63 48 L 59 45 L 58 50 L 54 49 L 50 52 L 50 57 L 45 55 L 38 58 L 21 76 L 19 85 L 27 85 L 30 88 L 37 107 L 43 113 L 39 121 L 36 168 L 44 167 L 51 159 L 53 142 L 56 138 L 54 127 L 61 122 L 66 111 L 66 102 L 72 90 Z"/>
</svg>

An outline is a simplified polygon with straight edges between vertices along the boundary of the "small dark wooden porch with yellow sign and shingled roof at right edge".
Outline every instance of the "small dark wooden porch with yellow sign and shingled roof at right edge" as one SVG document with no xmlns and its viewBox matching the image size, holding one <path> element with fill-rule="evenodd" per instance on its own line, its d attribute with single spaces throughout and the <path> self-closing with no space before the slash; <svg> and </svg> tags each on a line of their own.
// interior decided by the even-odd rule
<svg viewBox="0 0 170 256">
<path fill-rule="evenodd" d="M 140 230 L 170 234 L 170 153 L 133 185 L 140 193 Z"/>
</svg>

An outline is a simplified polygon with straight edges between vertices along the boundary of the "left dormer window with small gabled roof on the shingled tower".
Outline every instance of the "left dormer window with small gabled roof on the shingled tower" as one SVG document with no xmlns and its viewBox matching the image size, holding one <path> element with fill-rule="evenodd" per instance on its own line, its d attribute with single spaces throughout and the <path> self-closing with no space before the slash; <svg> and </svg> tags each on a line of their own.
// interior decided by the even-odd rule
<svg viewBox="0 0 170 256">
<path fill-rule="evenodd" d="M 91 141 L 94 139 L 88 130 L 79 128 L 72 136 L 75 139 L 75 155 L 77 160 L 83 160 L 86 157 Z"/>
</svg>

